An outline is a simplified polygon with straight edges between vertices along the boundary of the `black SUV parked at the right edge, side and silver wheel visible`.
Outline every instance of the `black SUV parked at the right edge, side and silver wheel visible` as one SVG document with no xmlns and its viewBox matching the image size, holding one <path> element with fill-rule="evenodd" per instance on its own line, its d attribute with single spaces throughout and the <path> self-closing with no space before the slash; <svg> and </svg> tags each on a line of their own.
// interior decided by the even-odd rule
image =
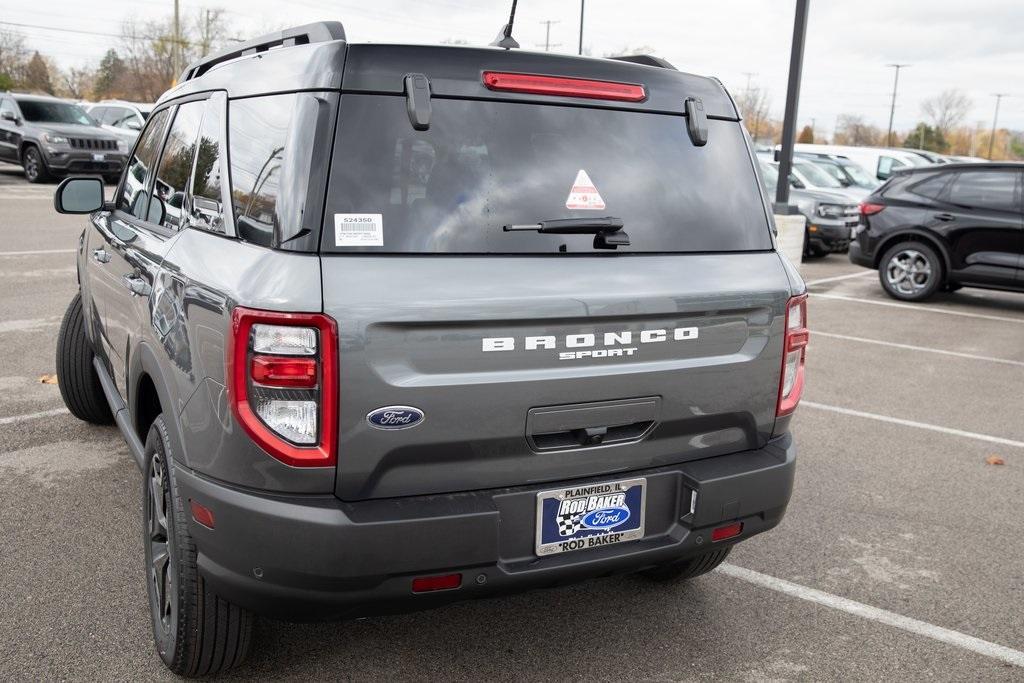
<svg viewBox="0 0 1024 683">
<path fill-rule="evenodd" d="M 879 269 L 890 296 L 961 287 L 1024 291 L 1024 164 L 897 171 L 860 205 L 850 260 Z"/>
</svg>

